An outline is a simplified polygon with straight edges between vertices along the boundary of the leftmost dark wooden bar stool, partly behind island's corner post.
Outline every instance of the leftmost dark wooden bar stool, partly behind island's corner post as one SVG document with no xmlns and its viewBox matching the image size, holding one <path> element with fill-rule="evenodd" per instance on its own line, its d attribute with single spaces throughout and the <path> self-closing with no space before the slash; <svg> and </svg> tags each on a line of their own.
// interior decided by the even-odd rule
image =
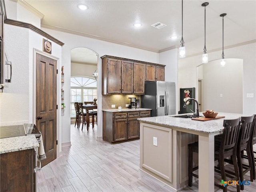
<svg viewBox="0 0 256 192">
<path fill-rule="evenodd" d="M 220 142 L 214 142 L 214 159 L 218 160 L 218 166 L 214 166 L 214 171 L 221 174 L 221 180 L 227 181 L 227 177 L 231 180 L 239 180 L 238 164 L 236 160 L 236 146 L 240 130 L 240 118 L 232 120 L 223 120 L 224 130 L 220 135 Z M 193 152 L 198 153 L 198 142 L 188 144 L 188 186 L 193 186 L 193 176 L 198 178 L 194 173 L 198 166 L 193 168 Z M 235 172 L 225 170 L 225 158 L 232 158 Z M 200 181 L 199 181 L 200 182 Z M 227 186 L 214 182 L 214 185 L 222 188 L 223 192 L 227 192 Z M 236 186 L 237 192 L 240 192 L 240 186 Z"/>
</svg>

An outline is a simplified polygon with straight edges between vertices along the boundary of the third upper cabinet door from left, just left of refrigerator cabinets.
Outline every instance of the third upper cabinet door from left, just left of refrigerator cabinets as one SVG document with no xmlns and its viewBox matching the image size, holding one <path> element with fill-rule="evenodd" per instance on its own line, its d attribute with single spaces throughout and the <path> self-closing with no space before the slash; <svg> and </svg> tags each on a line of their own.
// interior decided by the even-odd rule
<svg viewBox="0 0 256 192">
<path fill-rule="evenodd" d="M 145 93 L 146 65 L 134 63 L 134 94 Z"/>
</svg>

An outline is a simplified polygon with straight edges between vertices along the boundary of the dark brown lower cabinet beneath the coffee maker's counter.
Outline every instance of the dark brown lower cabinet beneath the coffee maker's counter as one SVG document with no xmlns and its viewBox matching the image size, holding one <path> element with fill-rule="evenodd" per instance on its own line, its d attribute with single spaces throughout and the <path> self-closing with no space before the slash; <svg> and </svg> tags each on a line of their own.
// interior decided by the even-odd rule
<svg viewBox="0 0 256 192">
<path fill-rule="evenodd" d="M 103 140 L 120 143 L 140 138 L 137 118 L 150 117 L 150 110 L 132 112 L 103 111 Z"/>
</svg>

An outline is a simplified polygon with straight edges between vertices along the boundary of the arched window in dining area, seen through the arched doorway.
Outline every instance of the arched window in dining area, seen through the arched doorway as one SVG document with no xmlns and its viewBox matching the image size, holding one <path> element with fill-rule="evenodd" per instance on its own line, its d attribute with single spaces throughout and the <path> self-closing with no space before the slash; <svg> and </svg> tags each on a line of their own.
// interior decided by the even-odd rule
<svg viewBox="0 0 256 192">
<path fill-rule="evenodd" d="M 97 98 L 97 81 L 89 77 L 70 78 L 70 116 L 76 117 L 74 102 L 93 101 Z"/>
</svg>

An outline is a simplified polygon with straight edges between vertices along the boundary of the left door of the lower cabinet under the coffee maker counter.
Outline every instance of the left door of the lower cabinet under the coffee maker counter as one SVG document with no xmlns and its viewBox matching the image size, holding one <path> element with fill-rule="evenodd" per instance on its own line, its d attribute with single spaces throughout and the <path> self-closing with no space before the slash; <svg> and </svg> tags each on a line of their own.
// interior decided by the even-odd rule
<svg viewBox="0 0 256 192">
<path fill-rule="evenodd" d="M 114 141 L 127 140 L 127 119 L 114 120 Z"/>
</svg>

